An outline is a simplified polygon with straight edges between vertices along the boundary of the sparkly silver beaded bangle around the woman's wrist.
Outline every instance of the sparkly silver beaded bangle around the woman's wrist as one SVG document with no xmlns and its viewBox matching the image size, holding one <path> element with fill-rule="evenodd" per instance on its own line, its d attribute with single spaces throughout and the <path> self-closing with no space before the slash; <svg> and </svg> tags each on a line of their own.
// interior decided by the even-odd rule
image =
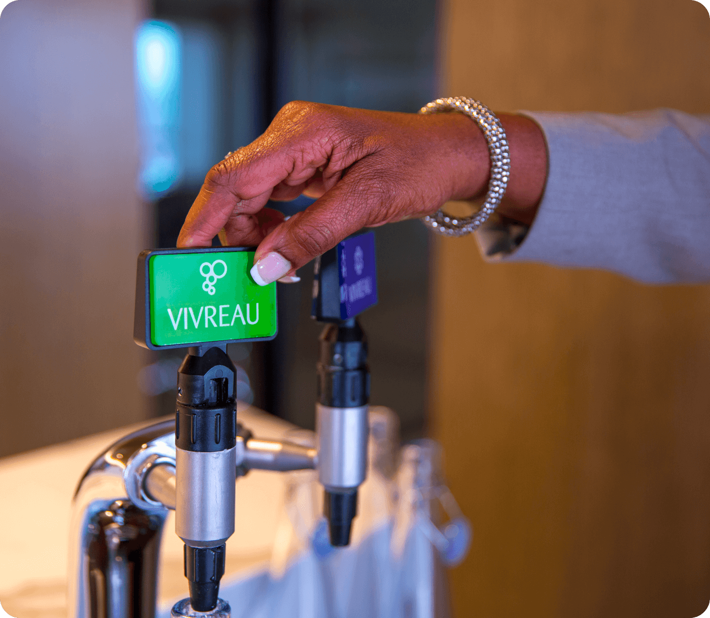
<svg viewBox="0 0 710 618">
<path fill-rule="evenodd" d="M 433 215 L 422 218 L 422 222 L 430 229 L 444 236 L 465 236 L 475 232 L 498 207 L 506 193 L 508 176 L 510 175 L 510 151 L 506 131 L 501 121 L 488 107 L 474 99 L 466 97 L 449 97 L 427 103 L 419 110 L 420 114 L 436 114 L 453 110 L 469 116 L 486 136 L 488 152 L 491 154 L 491 179 L 488 180 L 488 193 L 481 210 L 471 217 L 449 217 L 441 208 Z"/>
</svg>

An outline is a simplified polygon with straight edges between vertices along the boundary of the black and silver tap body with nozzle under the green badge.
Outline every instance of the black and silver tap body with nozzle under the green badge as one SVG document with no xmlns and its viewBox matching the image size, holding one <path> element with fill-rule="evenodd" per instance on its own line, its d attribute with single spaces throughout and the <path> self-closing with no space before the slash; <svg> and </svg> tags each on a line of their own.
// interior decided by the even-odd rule
<svg viewBox="0 0 710 618">
<path fill-rule="evenodd" d="M 236 369 L 226 345 L 207 347 L 190 348 L 178 370 L 175 421 L 175 532 L 197 612 L 217 606 L 236 483 Z"/>
</svg>

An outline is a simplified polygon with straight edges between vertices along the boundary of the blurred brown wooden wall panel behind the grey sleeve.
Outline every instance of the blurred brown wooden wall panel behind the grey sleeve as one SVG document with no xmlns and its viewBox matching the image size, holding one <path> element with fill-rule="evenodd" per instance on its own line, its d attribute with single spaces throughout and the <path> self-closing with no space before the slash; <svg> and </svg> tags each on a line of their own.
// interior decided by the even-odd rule
<svg viewBox="0 0 710 618">
<path fill-rule="evenodd" d="M 442 23 L 442 94 L 710 112 L 710 18 L 692 0 L 449 0 Z M 710 286 L 486 264 L 470 237 L 434 254 L 432 435 L 475 528 L 456 615 L 700 614 Z"/>
</svg>

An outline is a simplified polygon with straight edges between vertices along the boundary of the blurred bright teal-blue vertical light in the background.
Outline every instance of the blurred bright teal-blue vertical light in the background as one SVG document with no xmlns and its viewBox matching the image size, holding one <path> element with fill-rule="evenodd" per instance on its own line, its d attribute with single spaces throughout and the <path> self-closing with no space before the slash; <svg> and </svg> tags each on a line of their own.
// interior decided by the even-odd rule
<svg viewBox="0 0 710 618">
<path fill-rule="evenodd" d="M 180 180 L 180 62 L 178 28 L 146 21 L 136 32 L 136 90 L 141 133 L 139 183 L 158 197 Z"/>
</svg>

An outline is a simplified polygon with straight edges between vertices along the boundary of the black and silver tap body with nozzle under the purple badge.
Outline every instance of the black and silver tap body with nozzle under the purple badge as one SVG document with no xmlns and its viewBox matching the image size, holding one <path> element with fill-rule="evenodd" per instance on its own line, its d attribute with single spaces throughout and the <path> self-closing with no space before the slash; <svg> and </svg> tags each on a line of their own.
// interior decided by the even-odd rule
<svg viewBox="0 0 710 618">
<path fill-rule="evenodd" d="M 367 337 L 356 318 L 324 328 L 317 372 L 318 476 L 330 543 L 341 547 L 350 543 L 367 469 L 370 374 Z"/>
</svg>

